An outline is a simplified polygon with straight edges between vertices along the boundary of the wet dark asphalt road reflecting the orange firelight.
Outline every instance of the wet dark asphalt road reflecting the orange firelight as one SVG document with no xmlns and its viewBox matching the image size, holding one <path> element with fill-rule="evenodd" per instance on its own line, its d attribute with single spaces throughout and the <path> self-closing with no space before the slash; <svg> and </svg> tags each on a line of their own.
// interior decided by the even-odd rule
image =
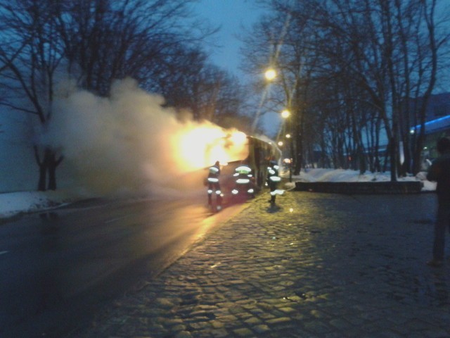
<svg viewBox="0 0 450 338">
<path fill-rule="evenodd" d="M 92 200 L 0 225 L 0 337 L 71 330 L 239 208 L 203 202 Z"/>
</svg>

